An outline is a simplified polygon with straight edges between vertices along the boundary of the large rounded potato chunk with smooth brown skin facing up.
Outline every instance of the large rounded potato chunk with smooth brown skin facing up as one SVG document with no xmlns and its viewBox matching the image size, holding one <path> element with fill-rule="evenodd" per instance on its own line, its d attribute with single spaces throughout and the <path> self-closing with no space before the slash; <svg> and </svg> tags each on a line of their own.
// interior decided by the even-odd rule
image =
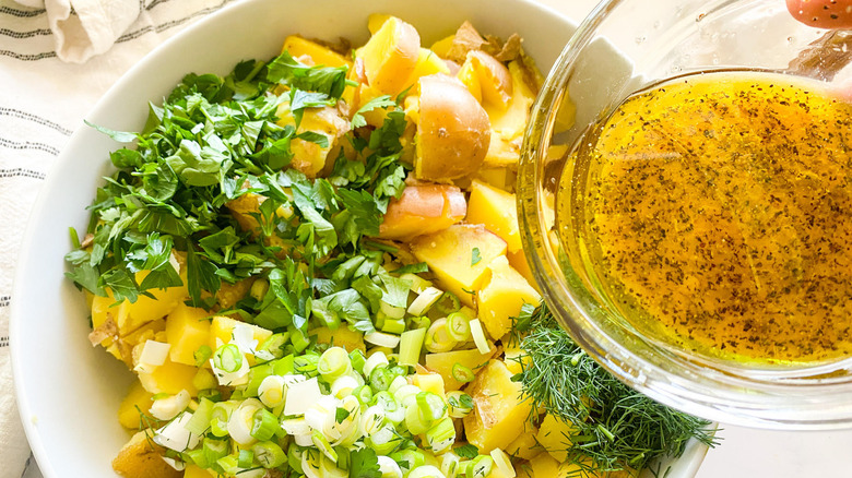
<svg viewBox="0 0 852 478">
<path fill-rule="evenodd" d="M 447 181 L 475 172 L 488 152 L 490 123 L 480 101 L 455 77 L 419 80 L 414 176 Z"/>
</svg>

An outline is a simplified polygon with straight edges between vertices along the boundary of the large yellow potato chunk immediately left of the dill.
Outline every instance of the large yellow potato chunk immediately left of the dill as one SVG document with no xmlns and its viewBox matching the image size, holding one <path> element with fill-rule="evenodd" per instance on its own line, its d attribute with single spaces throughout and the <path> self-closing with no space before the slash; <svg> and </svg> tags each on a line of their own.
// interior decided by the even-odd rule
<svg viewBox="0 0 852 478">
<path fill-rule="evenodd" d="M 464 433 L 480 450 L 505 450 L 524 431 L 532 404 L 511 379 L 504 362 L 492 360 L 466 389 L 475 405 L 463 419 Z"/>
</svg>

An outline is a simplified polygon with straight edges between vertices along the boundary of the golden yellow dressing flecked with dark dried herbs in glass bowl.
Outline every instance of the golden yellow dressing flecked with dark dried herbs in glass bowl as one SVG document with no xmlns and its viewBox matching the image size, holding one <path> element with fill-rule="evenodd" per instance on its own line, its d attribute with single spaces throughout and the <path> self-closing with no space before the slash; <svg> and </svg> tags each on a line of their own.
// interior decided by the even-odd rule
<svg viewBox="0 0 852 478">
<path fill-rule="evenodd" d="M 850 356 L 852 105 L 776 73 L 695 74 L 580 144 L 561 232 L 635 326 L 726 360 Z"/>
</svg>

